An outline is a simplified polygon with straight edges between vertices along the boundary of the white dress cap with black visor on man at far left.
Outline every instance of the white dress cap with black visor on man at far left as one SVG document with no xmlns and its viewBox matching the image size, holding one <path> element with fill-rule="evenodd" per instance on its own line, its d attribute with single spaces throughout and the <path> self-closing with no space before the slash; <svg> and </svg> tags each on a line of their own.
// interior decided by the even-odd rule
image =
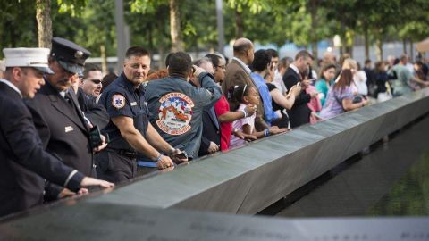
<svg viewBox="0 0 429 241">
<path fill-rule="evenodd" d="M 49 69 L 47 57 L 50 50 L 48 48 L 4 48 L 4 66 L 7 67 L 32 67 L 48 74 L 54 72 Z"/>
</svg>

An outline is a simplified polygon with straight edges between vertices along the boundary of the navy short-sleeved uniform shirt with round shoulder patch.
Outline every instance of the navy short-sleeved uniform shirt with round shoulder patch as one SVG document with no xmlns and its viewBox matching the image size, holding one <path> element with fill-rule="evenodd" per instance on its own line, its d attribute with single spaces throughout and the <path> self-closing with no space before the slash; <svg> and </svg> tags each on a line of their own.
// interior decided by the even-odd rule
<svg viewBox="0 0 429 241">
<path fill-rule="evenodd" d="M 109 113 L 111 119 L 103 129 L 103 132 L 109 134 L 110 137 L 109 148 L 134 152 L 112 122 L 114 117 L 127 116 L 132 118 L 134 127 L 139 130 L 143 137 L 146 137 L 149 114 L 144 94 L 144 87 L 142 85 L 138 88 L 134 87 L 123 72 L 103 91 L 99 104 L 105 106 L 105 110 Z"/>
</svg>

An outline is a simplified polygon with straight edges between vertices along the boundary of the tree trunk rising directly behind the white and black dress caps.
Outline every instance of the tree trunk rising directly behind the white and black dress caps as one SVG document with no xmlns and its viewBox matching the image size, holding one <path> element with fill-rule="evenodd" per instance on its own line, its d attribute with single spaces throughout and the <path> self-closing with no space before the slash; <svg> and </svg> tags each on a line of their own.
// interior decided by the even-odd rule
<svg viewBox="0 0 429 241">
<path fill-rule="evenodd" d="M 36 19 L 38 21 L 38 47 L 51 48 L 51 0 L 36 0 Z"/>
</svg>

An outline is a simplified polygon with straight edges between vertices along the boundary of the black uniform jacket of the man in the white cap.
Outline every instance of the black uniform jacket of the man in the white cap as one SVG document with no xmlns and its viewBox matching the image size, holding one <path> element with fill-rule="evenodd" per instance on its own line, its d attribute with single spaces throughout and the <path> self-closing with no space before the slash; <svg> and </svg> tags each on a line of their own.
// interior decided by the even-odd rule
<svg viewBox="0 0 429 241">
<path fill-rule="evenodd" d="M 0 83 L 0 216 L 42 204 L 45 180 L 61 186 L 71 176 L 67 167 L 43 150 L 31 114 L 21 96 Z M 39 176 L 40 175 L 40 176 Z M 68 182 L 78 190 L 83 175 Z"/>
</svg>

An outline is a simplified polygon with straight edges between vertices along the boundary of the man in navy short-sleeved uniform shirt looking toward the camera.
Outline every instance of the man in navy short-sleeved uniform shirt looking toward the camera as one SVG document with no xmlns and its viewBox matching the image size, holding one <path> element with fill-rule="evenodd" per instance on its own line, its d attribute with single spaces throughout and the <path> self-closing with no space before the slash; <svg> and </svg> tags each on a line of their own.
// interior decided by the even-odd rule
<svg viewBox="0 0 429 241">
<path fill-rule="evenodd" d="M 150 55 L 142 47 L 130 47 L 125 54 L 123 72 L 105 88 L 99 104 L 110 115 L 104 129 L 110 143 L 97 157 L 97 174 L 100 179 L 119 182 L 132 179 L 137 174 L 137 157 L 144 154 L 157 162 L 159 169 L 168 168 L 179 158 L 181 151 L 172 148 L 148 121 L 149 113 L 142 86 L 150 70 Z"/>
</svg>

